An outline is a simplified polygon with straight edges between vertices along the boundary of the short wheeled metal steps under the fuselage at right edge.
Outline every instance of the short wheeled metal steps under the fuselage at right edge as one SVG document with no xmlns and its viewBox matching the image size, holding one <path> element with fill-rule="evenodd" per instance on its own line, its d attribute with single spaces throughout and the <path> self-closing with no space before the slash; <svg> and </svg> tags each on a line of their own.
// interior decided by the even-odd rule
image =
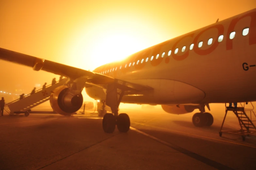
<svg viewBox="0 0 256 170">
<path fill-rule="evenodd" d="M 254 122 L 256 122 L 256 115 L 253 111 L 254 106 L 252 102 L 249 102 L 249 103 L 252 106 L 250 108 L 245 108 L 245 104 L 248 104 L 248 103 L 240 103 L 241 107 L 237 107 L 237 108 L 227 107 L 225 105 L 226 114 L 224 116 L 220 131 L 219 131 L 219 136 L 222 136 L 222 132 L 227 132 L 227 133 L 241 135 L 242 139 L 245 140 L 246 135 L 256 133 L 256 127 L 253 124 Z M 228 111 L 232 111 L 237 117 L 240 125 L 240 130 L 222 130 Z"/>
</svg>

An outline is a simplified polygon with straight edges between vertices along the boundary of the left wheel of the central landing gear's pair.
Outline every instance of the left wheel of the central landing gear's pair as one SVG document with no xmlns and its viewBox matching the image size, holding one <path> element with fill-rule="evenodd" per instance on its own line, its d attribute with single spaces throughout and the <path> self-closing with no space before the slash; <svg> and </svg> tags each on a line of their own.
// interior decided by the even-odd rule
<svg viewBox="0 0 256 170">
<path fill-rule="evenodd" d="M 103 117 L 102 127 L 104 132 L 113 133 L 116 128 L 116 118 L 113 114 L 107 113 Z"/>
</svg>

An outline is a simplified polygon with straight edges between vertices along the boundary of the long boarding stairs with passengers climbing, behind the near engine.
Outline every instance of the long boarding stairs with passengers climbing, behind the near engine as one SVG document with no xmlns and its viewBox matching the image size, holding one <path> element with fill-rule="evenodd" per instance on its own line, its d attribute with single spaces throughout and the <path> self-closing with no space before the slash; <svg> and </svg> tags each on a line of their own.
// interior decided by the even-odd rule
<svg viewBox="0 0 256 170">
<path fill-rule="evenodd" d="M 23 99 L 17 99 L 5 104 L 4 109 L 9 115 L 24 113 L 25 116 L 28 116 L 31 108 L 48 101 L 50 99 L 51 91 L 61 85 L 64 85 L 67 81 L 68 79 L 66 78 L 56 82 L 53 85 L 47 85 L 46 88 L 41 88 L 35 91 L 33 94 L 28 94 L 24 96 Z"/>
</svg>

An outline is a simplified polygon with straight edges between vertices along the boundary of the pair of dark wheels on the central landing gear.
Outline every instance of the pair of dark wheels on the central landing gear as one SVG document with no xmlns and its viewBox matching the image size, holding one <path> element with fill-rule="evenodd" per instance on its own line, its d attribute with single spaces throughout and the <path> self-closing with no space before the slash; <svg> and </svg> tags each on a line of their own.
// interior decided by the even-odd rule
<svg viewBox="0 0 256 170">
<path fill-rule="evenodd" d="M 130 118 L 126 113 L 121 113 L 117 116 L 117 118 L 111 114 L 107 113 L 103 117 L 102 127 L 104 132 L 113 133 L 115 128 L 117 128 L 120 132 L 127 132 L 130 129 Z"/>
</svg>

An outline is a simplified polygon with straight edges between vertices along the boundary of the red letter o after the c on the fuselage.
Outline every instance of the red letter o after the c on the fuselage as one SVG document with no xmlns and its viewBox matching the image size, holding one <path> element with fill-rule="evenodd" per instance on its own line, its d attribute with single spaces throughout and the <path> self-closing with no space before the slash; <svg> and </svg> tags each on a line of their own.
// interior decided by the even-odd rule
<svg viewBox="0 0 256 170">
<path fill-rule="evenodd" d="M 199 39 L 200 35 L 202 35 L 205 31 L 210 30 L 210 29 L 213 29 L 213 28 L 217 28 L 217 29 L 218 29 L 217 39 L 215 39 L 213 45 L 212 45 L 210 48 L 208 48 L 208 49 L 206 49 L 206 50 L 201 50 L 201 49 L 198 47 L 198 39 Z M 221 24 L 213 25 L 213 26 L 211 26 L 211 27 L 209 27 L 209 28 L 206 28 L 205 30 L 201 31 L 201 32 L 196 36 L 196 38 L 194 39 L 194 42 L 193 42 L 193 43 L 194 43 L 194 51 L 195 51 L 195 53 L 197 53 L 197 54 L 199 54 L 199 55 L 207 55 L 207 54 L 210 54 L 211 52 L 213 52 L 213 51 L 216 49 L 216 47 L 219 45 L 218 37 L 219 37 L 220 35 L 223 35 L 223 33 L 224 33 L 224 26 L 221 25 Z M 211 38 L 212 38 L 212 37 L 211 37 Z"/>
</svg>

